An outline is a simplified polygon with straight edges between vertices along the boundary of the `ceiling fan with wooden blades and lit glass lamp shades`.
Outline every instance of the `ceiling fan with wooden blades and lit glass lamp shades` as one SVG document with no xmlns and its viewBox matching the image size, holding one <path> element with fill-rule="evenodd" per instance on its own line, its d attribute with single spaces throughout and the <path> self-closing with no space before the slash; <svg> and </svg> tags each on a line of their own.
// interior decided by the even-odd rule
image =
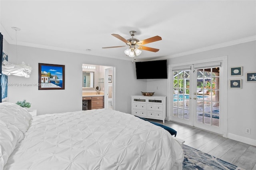
<svg viewBox="0 0 256 170">
<path fill-rule="evenodd" d="M 136 38 L 133 38 L 133 36 L 135 34 L 136 34 L 136 31 L 130 31 L 130 35 L 132 36 L 132 38 L 130 38 L 128 40 L 126 40 L 125 38 L 123 38 L 122 36 L 120 36 L 118 34 L 111 34 L 112 36 L 114 36 L 114 37 L 118 38 L 119 40 L 125 42 L 126 46 L 122 45 L 122 46 L 102 47 L 102 48 L 105 49 L 105 48 L 116 48 L 116 47 L 127 47 L 128 46 L 129 48 L 124 50 L 124 53 L 126 55 L 129 55 L 129 57 L 136 57 L 136 56 L 140 55 L 140 53 L 141 53 L 140 49 L 147 50 L 147 51 L 152 51 L 152 52 L 159 51 L 159 49 L 151 48 L 151 47 L 145 47 L 145 46 L 142 46 L 142 45 L 162 40 L 162 38 L 160 36 L 154 36 L 154 37 L 151 37 L 151 38 L 140 41 Z"/>
</svg>

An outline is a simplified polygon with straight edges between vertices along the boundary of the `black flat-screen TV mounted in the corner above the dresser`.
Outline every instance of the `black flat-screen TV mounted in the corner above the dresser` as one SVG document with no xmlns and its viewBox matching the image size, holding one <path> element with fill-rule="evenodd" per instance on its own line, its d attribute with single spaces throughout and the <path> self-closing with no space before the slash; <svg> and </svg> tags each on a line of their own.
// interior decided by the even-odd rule
<svg viewBox="0 0 256 170">
<path fill-rule="evenodd" d="M 167 79 L 167 60 L 135 62 L 137 79 Z"/>
</svg>

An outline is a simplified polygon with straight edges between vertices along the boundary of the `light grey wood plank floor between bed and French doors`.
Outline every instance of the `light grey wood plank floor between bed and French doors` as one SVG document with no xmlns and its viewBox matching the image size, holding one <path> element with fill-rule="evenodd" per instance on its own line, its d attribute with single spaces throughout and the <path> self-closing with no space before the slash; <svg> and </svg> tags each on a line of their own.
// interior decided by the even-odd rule
<svg viewBox="0 0 256 170">
<path fill-rule="evenodd" d="M 150 119 L 163 124 L 162 121 Z M 177 131 L 177 138 L 186 145 L 230 162 L 245 170 L 256 170 L 256 146 L 224 138 L 190 126 L 165 121 L 163 124 Z"/>
</svg>

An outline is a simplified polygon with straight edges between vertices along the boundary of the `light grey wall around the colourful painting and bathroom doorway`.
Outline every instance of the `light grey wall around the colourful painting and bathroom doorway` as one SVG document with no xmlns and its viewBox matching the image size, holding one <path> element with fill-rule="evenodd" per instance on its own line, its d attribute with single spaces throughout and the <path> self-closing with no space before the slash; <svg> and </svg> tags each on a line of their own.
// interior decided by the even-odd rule
<svg viewBox="0 0 256 170">
<path fill-rule="evenodd" d="M 3 42 L 9 61 L 16 63 L 16 47 Z M 121 56 L 123 57 L 123 56 Z M 38 90 L 37 86 L 8 87 L 8 102 L 16 103 L 26 99 L 32 103 L 30 109 L 37 109 L 38 115 L 82 110 L 82 64 L 116 67 L 116 110 L 131 113 L 131 95 L 139 94 L 146 82 L 138 82 L 135 64 L 92 55 L 69 53 L 18 45 L 18 61 L 32 66 L 30 78 L 8 76 L 9 84 L 38 83 L 38 63 L 65 65 L 64 90 Z"/>
</svg>

